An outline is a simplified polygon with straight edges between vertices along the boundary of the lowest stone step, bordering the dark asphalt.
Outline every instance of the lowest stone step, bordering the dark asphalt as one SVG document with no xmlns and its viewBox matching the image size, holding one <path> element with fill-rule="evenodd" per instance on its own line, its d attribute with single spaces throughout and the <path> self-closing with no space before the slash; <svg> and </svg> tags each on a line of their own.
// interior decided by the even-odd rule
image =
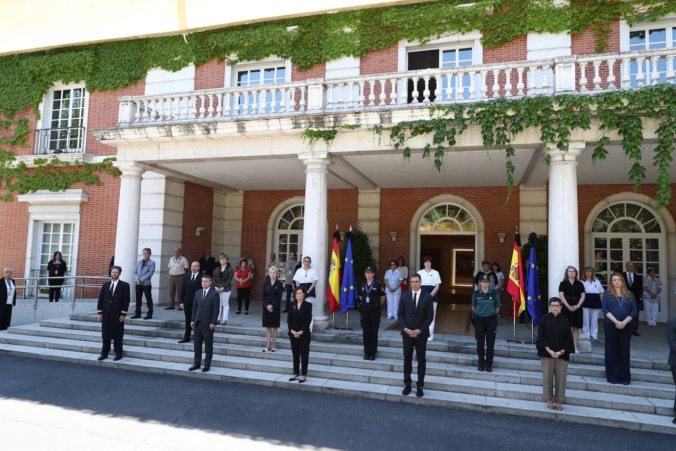
<svg viewBox="0 0 676 451">
<path fill-rule="evenodd" d="M 96 360 L 96 354 L 84 354 L 82 352 L 59 352 L 47 355 L 34 353 L 36 348 L 16 346 L 14 349 L 0 348 L 0 354 L 14 356 L 38 357 L 45 360 L 59 360 L 76 364 L 89 364 L 109 366 L 118 369 L 156 373 L 164 375 L 178 375 L 182 377 L 198 377 L 223 382 L 247 383 L 253 385 L 265 385 L 285 389 L 304 389 L 324 394 L 354 396 L 356 398 L 371 398 L 376 400 L 389 400 L 392 402 L 411 402 L 427 406 L 439 406 L 444 408 L 461 408 L 463 410 L 478 410 L 500 414 L 514 414 L 522 417 L 551 418 L 557 421 L 571 423 L 594 424 L 634 431 L 647 431 L 676 435 L 676 426 L 671 424 L 669 417 L 638 412 L 625 412 L 604 408 L 566 406 L 563 411 L 548 410 L 544 402 L 526 400 L 505 400 L 490 396 L 478 396 L 467 394 L 455 394 L 435 390 L 425 390 L 425 398 L 416 398 L 413 395 L 402 396 L 402 387 L 392 385 L 354 383 L 349 381 L 332 381 L 322 378 L 310 378 L 304 384 L 288 381 L 288 375 L 277 376 L 271 373 L 259 371 L 243 371 L 226 369 L 220 371 L 212 368 L 209 373 L 192 373 L 183 369 L 185 364 L 173 364 L 168 362 L 156 362 L 144 359 L 122 359 L 113 362 L 107 359 L 103 362 Z"/>
</svg>

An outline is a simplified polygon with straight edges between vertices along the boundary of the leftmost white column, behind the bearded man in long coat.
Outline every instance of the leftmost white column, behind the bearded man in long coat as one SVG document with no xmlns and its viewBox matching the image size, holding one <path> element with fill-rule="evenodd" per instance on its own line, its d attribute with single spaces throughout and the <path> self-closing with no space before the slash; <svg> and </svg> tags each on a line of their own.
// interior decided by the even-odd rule
<svg viewBox="0 0 676 451">
<path fill-rule="evenodd" d="M 120 176 L 118 230 L 115 239 L 115 264 L 122 267 L 120 279 L 134 285 L 134 268 L 139 256 L 139 218 L 141 216 L 141 174 L 136 162 L 115 162 Z"/>
</svg>

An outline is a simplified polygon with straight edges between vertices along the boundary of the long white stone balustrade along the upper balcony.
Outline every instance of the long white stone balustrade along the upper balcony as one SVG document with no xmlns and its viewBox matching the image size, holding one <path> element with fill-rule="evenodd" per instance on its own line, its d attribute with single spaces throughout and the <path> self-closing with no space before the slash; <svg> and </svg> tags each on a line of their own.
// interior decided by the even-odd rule
<svg viewBox="0 0 676 451">
<path fill-rule="evenodd" d="M 673 83 L 675 58 L 676 49 L 652 49 L 120 97 L 119 122 L 232 120 L 638 89 Z"/>
</svg>

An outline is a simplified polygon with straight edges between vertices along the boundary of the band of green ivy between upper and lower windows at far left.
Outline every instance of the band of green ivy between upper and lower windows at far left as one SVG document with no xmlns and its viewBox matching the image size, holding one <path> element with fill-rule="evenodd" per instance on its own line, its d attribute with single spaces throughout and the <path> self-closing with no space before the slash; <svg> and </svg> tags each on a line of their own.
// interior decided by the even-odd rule
<svg viewBox="0 0 676 451">
<path fill-rule="evenodd" d="M 12 201 L 14 195 L 26 194 L 39 189 L 62 191 L 75 183 L 83 185 L 103 185 L 99 179 L 100 172 L 112 176 L 120 176 L 118 168 L 112 167 L 115 158 L 105 158 L 99 163 L 81 164 L 67 162 L 54 157 L 36 158 L 34 168 L 28 168 L 26 163 L 17 162 L 14 153 L 0 150 L 0 186 L 9 191 L 0 200 Z"/>
</svg>

